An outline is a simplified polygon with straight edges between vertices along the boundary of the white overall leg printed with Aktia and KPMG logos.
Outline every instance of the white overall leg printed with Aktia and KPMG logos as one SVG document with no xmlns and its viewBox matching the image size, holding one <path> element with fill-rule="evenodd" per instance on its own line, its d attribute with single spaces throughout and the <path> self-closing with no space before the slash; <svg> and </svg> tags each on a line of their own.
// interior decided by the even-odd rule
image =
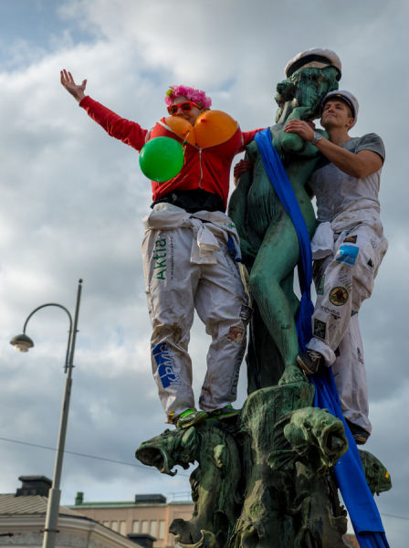
<svg viewBox="0 0 409 548">
<path fill-rule="evenodd" d="M 194 407 L 187 348 L 200 272 L 190 263 L 191 248 L 189 228 L 148 230 L 142 243 L 152 373 L 167 416 Z"/>
</svg>

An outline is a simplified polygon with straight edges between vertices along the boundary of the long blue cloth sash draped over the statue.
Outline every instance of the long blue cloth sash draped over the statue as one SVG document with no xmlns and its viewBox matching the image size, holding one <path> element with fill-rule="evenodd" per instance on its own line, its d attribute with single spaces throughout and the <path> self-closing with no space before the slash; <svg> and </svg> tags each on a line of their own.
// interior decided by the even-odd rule
<svg viewBox="0 0 409 548">
<path fill-rule="evenodd" d="M 269 128 L 257 132 L 255 136 L 258 150 L 267 176 L 284 209 L 290 216 L 299 237 L 299 286 L 301 300 L 296 318 L 299 348 L 305 351 L 312 336 L 311 316 L 314 306 L 311 301 L 312 256 L 309 231 L 299 209 L 299 202 L 288 180 L 288 175 L 272 144 Z M 330 367 L 322 374 L 311 378 L 315 385 L 314 406 L 325 408 L 333 416 L 340 418 L 345 427 L 349 448 L 335 465 L 334 471 L 341 490 L 342 499 L 350 514 L 353 529 L 361 548 L 389 548 L 383 523 L 371 490 L 365 479 L 362 462 L 355 440 L 341 412 L 341 402 Z"/>
</svg>

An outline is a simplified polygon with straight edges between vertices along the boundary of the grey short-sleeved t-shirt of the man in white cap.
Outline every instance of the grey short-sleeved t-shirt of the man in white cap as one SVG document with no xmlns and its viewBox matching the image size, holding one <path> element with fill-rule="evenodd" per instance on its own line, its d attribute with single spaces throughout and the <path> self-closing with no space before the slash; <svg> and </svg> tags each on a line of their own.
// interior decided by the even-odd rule
<svg viewBox="0 0 409 548">
<path fill-rule="evenodd" d="M 351 153 L 372 151 L 383 160 L 385 158 L 383 141 L 376 133 L 352 137 L 342 148 Z M 358 179 L 323 159 L 309 180 L 309 186 L 317 196 L 318 221 L 330 221 L 336 232 L 355 226 L 357 221 L 370 225 L 380 223 L 378 193 L 381 172 L 382 168 Z"/>
</svg>

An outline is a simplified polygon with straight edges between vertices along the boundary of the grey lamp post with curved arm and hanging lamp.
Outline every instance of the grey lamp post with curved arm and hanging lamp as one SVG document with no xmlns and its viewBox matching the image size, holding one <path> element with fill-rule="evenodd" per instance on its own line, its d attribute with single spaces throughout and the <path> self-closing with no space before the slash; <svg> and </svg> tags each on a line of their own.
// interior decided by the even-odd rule
<svg viewBox="0 0 409 548">
<path fill-rule="evenodd" d="M 61 415 L 59 418 L 59 428 L 58 428 L 58 444 L 57 444 L 57 453 L 56 460 L 54 464 L 54 476 L 52 487 L 48 493 L 48 503 L 47 503 L 47 516 L 46 524 L 44 528 L 44 540 L 43 548 L 54 548 L 56 545 L 57 537 L 57 526 L 58 526 L 58 510 L 59 510 L 59 500 L 61 497 L 61 490 L 59 489 L 60 479 L 61 479 L 61 470 L 62 470 L 62 460 L 64 457 L 64 447 L 66 443 L 66 434 L 67 434 L 67 423 L 68 423 L 68 411 L 69 411 L 69 398 L 71 395 L 71 385 L 72 385 L 72 369 L 74 367 L 74 350 L 75 350 L 75 341 L 77 336 L 77 325 L 79 320 L 79 301 L 81 299 L 81 290 L 82 290 L 82 279 L 79 279 L 79 287 L 77 291 L 77 301 L 75 305 L 74 312 L 74 321 L 72 321 L 71 314 L 69 311 L 56 302 L 47 302 L 38 306 L 37 309 L 32 311 L 24 324 L 23 332 L 20 335 L 16 335 L 11 341 L 10 344 L 13 344 L 17 351 L 27 352 L 29 348 L 34 346 L 34 342 L 26 335 L 26 325 L 37 311 L 43 309 L 47 306 L 57 306 L 58 308 L 66 311 L 69 319 L 69 332 L 68 332 L 68 345 L 67 345 L 67 354 L 66 354 L 66 363 L 64 368 L 64 373 L 66 376 L 66 382 L 64 385 L 64 397 L 62 400 Z"/>
</svg>

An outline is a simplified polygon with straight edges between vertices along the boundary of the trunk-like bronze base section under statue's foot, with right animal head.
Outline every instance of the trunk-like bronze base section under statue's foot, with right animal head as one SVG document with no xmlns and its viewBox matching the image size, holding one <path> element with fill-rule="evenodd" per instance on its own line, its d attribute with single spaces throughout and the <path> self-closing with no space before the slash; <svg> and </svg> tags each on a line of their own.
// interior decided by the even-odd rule
<svg viewBox="0 0 409 548">
<path fill-rule="evenodd" d="M 293 383 L 247 397 L 246 487 L 229 547 L 343 546 L 346 512 L 330 470 L 348 444 L 341 421 L 311 407 L 313 396 L 312 385 Z M 309 543 L 316 537 L 320 543 Z"/>
</svg>

